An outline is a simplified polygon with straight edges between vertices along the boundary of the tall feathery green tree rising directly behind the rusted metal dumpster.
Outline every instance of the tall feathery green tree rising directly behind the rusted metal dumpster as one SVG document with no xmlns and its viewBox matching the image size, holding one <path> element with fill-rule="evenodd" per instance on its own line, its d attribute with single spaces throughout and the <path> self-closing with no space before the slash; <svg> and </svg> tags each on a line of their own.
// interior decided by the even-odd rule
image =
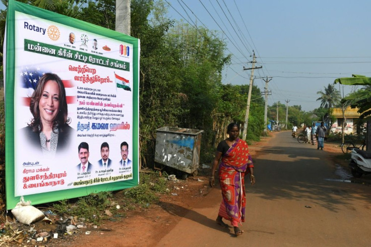
<svg viewBox="0 0 371 247">
<path fill-rule="evenodd" d="M 169 45 L 180 52 L 178 79 L 181 92 L 188 96 L 183 102 L 181 123 L 187 128 L 211 129 L 210 115 L 217 103 L 221 86 L 221 72 L 228 62 L 225 43 L 214 33 L 188 24 L 178 23 L 169 30 Z"/>
</svg>

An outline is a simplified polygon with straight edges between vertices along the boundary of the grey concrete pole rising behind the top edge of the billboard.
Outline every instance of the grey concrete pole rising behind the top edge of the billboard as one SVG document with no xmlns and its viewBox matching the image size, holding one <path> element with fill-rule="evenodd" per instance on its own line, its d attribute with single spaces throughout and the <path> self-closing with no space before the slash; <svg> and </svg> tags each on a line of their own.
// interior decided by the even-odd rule
<svg viewBox="0 0 371 247">
<path fill-rule="evenodd" d="M 130 35 L 130 2 L 131 0 L 116 0 L 115 30 Z"/>
</svg>

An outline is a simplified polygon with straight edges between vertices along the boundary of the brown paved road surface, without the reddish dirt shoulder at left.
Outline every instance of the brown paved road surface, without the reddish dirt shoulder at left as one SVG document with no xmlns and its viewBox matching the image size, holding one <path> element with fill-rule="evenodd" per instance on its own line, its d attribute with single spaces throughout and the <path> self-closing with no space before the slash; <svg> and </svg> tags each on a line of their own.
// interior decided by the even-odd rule
<svg viewBox="0 0 371 247">
<path fill-rule="evenodd" d="M 254 147 L 252 147 L 254 149 Z M 325 150 L 277 133 L 254 156 L 246 184 L 244 233 L 215 224 L 221 200 L 212 189 L 156 246 L 369 246 L 371 187 L 342 182 Z M 246 181 L 249 183 L 249 181 Z"/>
</svg>

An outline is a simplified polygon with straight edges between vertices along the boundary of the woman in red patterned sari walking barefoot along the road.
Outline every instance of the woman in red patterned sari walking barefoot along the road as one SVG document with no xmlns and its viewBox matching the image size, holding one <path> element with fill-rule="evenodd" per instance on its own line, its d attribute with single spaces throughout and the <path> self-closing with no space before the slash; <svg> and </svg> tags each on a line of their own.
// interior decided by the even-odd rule
<svg viewBox="0 0 371 247">
<path fill-rule="evenodd" d="M 219 160 L 219 181 L 222 191 L 222 202 L 220 204 L 216 223 L 228 227 L 222 220 L 231 222 L 234 234 L 240 235 L 243 230 L 238 224 L 244 222 L 246 197 L 244 191 L 244 175 L 250 172 L 251 185 L 255 184 L 253 160 L 249 154 L 248 144 L 239 139 L 239 127 L 236 123 L 230 123 L 227 127 L 229 137 L 221 141 L 217 147 L 209 183 L 214 187 L 214 173 Z"/>
</svg>

